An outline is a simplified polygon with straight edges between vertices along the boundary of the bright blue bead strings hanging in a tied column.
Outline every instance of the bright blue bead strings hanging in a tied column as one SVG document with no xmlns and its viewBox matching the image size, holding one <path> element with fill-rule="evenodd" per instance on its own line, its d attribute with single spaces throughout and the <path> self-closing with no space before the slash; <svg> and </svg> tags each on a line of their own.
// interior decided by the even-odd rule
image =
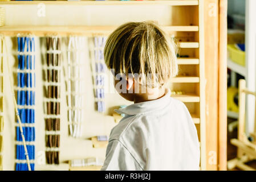
<svg viewBox="0 0 256 182">
<path fill-rule="evenodd" d="M 35 159 L 35 38 L 34 36 L 17 37 L 18 40 L 18 69 L 17 69 L 17 107 L 25 135 L 27 152 L 30 156 L 30 167 L 34 171 Z M 17 121 L 18 123 L 18 121 Z M 27 125 L 29 124 L 29 125 Z M 22 141 L 21 130 L 16 127 L 16 171 L 27 171 L 24 162 L 25 148 L 19 143 Z"/>
</svg>

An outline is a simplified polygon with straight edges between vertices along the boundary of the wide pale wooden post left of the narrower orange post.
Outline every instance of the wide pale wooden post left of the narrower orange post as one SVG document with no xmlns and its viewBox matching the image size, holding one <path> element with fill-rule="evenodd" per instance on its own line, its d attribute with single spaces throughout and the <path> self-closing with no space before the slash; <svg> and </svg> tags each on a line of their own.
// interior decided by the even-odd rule
<svg viewBox="0 0 256 182">
<path fill-rule="evenodd" d="M 218 0 L 204 1 L 206 170 L 217 170 L 218 156 Z"/>
</svg>

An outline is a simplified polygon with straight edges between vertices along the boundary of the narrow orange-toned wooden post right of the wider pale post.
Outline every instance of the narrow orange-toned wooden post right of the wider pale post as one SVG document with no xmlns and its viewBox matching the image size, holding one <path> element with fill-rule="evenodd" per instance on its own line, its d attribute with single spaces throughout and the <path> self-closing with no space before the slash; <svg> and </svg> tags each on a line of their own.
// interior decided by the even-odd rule
<svg viewBox="0 0 256 182">
<path fill-rule="evenodd" d="M 218 142 L 219 170 L 227 169 L 227 0 L 219 3 L 219 87 Z"/>
</svg>

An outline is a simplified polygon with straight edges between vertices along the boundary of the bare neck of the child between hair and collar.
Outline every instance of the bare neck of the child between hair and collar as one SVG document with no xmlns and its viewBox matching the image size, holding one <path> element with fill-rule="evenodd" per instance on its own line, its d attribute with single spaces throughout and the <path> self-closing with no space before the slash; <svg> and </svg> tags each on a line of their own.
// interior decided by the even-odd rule
<svg viewBox="0 0 256 182">
<path fill-rule="evenodd" d="M 162 88 L 157 88 L 154 90 L 151 90 L 150 93 L 141 93 L 136 96 L 134 96 L 134 104 L 139 102 L 146 102 L 146 101 L 152 101 L 157 100 L 158 98 L 161 98 L 165 95 L 165 88 L 162 86 Z"/>
</svg>

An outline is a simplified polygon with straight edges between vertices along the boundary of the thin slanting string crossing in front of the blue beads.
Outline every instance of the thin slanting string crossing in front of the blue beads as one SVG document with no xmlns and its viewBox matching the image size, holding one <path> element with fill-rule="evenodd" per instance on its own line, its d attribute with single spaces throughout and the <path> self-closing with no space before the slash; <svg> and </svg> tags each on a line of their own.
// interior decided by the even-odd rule
<svg viewBox="0 0 256 182">
<path fill-rule="evenodd" d="M 3 42 L 5 44 L 5 50 L 7 50 L 5 38 L 4 38 Z M 13 94 L 13 102 L 14 102 L 14 107 L 15 107 L 15 115 L 18 118 L 19 131 L 20 131 L 20 134 L 21 134 L 23 148 L 24 148 L 23 154 L 25 154 L 25 156 L 26 156 L 27 168 L 29 169 L 29 171 L 31 171 L 30 160 L 29 160 L 29 153 L 27 152 L 27 145 L 26 145 L 25 136 L 23 134 L 22 122 L 21 122 L 21 118 L 19 117 L 18 105 L 17 105 L 17 101 L 16 101 L 16 98 L 15 98 L 14 86 L 13 86 L 13 80 L 11 78 L 11 68 L 10 68 L 10 65 L 9 65 L 8 56 L 7 56 L 7 59 L 6 59 L 6 63 L 7 63 L 7 67 L 8 67 L 8 75 L 9 75 L 9 81 L 10 81 L 10 86 L 11 86 L 11 92 Z"/>
</svg>

